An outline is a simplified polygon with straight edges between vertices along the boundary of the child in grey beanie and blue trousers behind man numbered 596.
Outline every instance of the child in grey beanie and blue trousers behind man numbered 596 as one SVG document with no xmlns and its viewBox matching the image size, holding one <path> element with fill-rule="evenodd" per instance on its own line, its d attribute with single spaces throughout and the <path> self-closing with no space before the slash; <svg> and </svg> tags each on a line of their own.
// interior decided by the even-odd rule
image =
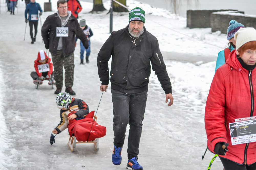
<svg viewBox="0 0 256 170">
<path fill-rule="evenodd" d="M 85 59 L 86 59 L 86 63 L 89 63 L 89 56 L 91 54 L 91 41 L 90 41 L 90 38 L 93 36 L 93 33 L 92 33 L 91 28 L 88 27 L 88 25 L 86 25 L 86 20 L 85 19 L 80 20 L 79 24 L 80 24 L 80 27 L 82 28 L 84 34 L 88 38 L 89 47 L 88 47 L 88 49 L 86 49 L 86 57 L 85 57 Z M 81 59 L 81 63 L 80 64 L 83 64 L 84 49 L 85 48 L 83 46 L 83 43 L 80 41 L 80 59 Z"/>
</svg>

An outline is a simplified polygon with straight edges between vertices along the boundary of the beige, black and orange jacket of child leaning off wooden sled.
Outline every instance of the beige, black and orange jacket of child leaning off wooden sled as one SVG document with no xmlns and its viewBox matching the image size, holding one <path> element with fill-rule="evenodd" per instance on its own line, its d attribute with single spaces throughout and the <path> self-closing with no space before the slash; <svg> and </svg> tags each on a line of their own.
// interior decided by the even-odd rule
<svg viewBox="0 0 256 170">
<path fill-rule="evenodd" d="M 89 113 L 89 107 L 83 100 L 72 98 L 69 110 L 60 110 L 60 123 L 55 128 L 58 134 L 68 127 L 68 115 L 72 112 L 80 118 Z"/>
</svg>

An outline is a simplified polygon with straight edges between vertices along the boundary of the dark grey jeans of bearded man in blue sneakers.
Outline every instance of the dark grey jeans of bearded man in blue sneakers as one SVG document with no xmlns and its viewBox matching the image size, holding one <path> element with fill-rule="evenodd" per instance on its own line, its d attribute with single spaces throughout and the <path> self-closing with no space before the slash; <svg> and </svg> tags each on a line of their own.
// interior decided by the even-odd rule
<svg viewBox="0 0 256 170">
<path fill-rule="evenodd" d="M 123 147 L 126 126 L 129 123 L 128 159 L 137 157 L 139 153 L 147 91 L 148 90 L 145 90 L 136 94 L 126 94 L 118 90 L 111 90 L 114 114 L 114 145 L 116 147 Z"/>
</svg>

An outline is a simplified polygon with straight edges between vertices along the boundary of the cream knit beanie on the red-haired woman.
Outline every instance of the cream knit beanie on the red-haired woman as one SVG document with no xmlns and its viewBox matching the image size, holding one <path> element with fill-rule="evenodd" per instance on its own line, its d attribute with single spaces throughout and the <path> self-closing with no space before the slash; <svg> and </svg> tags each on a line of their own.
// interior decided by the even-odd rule
<svg viewBox="0 0 256 170">
<path fill-rule="evenodd" d="M 251 27 L 240 28 L 234 35 L 236 40 L 236 50 L 245 43 L 256 41 L 256 30 Z"/>
</svg>

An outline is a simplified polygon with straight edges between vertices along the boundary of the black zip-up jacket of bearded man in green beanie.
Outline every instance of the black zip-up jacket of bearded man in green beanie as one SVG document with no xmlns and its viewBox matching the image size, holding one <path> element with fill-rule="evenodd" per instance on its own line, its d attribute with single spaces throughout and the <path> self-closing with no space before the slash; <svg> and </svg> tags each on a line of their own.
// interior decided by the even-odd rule
<svg viewBox="0 0 256 170">
<path fill-rule="evenodd" d="M 119 31 L 113 31 L 98 53 L 98 74 L 102 85 L 109 83 L 108 61 L 112 55 L 111 89 L 123 93 L 147 90 L 151 62 L 152 69 L 165 94 L 172 93 L 172 86 L 156 37 L 144 27 L 144 33 L 140 37 L 132 38 L 128 27 L 129 25 Z"/>
</svg>

